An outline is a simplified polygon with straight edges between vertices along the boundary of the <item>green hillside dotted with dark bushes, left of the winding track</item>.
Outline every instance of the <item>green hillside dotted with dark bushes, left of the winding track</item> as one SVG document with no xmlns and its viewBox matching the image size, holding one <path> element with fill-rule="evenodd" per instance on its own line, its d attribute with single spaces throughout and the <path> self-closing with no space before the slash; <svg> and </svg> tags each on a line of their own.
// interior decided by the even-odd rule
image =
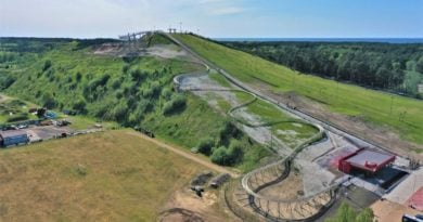
<svg viewBox="0 0 423 222">
<path fill-rule="evenodd" d="M 0 63 L 0 91 L 5 94 L 55 110 L 141 127 L 187 148 L 201 145 L 202 140 L 211 141 L 211 153 L 236 144 L 242 147 L 236 157 L 228 149 L 225 158 L 231 158 L 216 162 L 241 170 L 254 168 L 268 155 L 206 102 L 174 92 L 176 75 L 204 69 L 187 58 L 93 54 L 105 40 L 1 40 L 1 53 L 11 55 Z M 148 42 L 167 43 L 163 36 Z"/>
</svg>

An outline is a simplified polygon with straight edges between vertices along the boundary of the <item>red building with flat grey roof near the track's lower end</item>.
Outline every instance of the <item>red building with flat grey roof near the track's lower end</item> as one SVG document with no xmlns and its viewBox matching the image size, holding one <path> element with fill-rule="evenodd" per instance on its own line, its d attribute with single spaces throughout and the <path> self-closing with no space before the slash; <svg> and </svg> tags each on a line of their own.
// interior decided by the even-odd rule
<svg viewBox="0 0 423 222">
<path fill-rule="evenodd" d="M 375 173 L 394 161 L 394 155 L 360 148 L 355 153 L 341 158 L 338 170 L 350 173 L 351 170 L 358 169 L 369 173 Z"/>
</svg>

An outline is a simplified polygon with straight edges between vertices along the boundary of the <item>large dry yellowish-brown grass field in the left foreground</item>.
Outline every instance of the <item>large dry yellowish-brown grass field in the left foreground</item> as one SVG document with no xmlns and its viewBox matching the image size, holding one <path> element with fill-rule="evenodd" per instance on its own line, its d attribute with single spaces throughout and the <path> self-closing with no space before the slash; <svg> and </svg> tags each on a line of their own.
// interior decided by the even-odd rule
<svg viewBox="0 0 423 222">
<path fill-rule="evenodd" d="M 129 132 L 0 151 L 0 221 L 155 221 L 204 168 Z"/>
</svg>

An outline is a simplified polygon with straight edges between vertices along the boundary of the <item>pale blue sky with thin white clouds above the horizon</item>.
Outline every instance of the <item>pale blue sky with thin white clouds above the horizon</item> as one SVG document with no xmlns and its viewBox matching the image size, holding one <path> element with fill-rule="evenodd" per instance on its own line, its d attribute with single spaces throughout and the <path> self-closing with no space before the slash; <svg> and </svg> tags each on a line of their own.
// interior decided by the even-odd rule
<svg viewBox="0 0 423 222">
<path fill-rule="evenodd" d="M 423 37 L 423 0 L 0 0 L 0 36 Z"/>
</svg>

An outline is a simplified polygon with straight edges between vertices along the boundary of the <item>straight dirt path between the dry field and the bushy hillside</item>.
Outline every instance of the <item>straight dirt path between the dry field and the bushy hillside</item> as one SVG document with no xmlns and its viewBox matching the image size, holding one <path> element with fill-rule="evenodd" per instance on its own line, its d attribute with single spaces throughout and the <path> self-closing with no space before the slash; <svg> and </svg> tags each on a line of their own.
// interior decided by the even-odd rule
<svg viewBox="0 0 423 222">
<path fill-rule="evenodd" d="M 182 151 L 181 148 L 178 148 L 176 146 L 166 144 L 166 143 L 164 143 L 162 141 L 149 138 L 149 136 L 146 136 L 146 135 L 144 135 L 142 133 L 139 133 L 139 132 L 128 132 L 128 134 L 134 135 L 134 136 L 139 136 L 139 138 L 142 138 L 142 139 L 144 139 L 146 141 L 155 143 L 155 144 L 157 144 L 157 145 L 159 145 L 159 146 L 162 146 L 164 148 L 167 148 L 167 149 L 169 149 L 169 151 L 171 151 L 171 152 L 174 152 L 174 153 L 176 153 L 176 154 L 178 154 L 180 156 L 185 157 L 187 159 L 193 160 L 193 161 L 195 161 L 195 162 L 197 162 L 200 165 L 203 165 L 203 166 L 205 166 L 205 167 L 207 167 L 207 168 L 209 168 L 211 170 L 215 170 L 217 172 L 229 173 L 232 178 L 239 178 L 240 177 L 240 174 L 236 173 L 236 172 L 233 172 L 233 171 L 231 171 L 231 170 L 229 170 L 227 168 L 223 168 L 223 167 L 219 167 L 219 166 L 217 166 L 217 165 L 215 165 L 213 162 L 209 162 L 207 160 L 201 159 L 201 158 L 198 158 L 197 156 L 195 156 L 193 154 L 190 154 L 188 152 Z"/>
</svg>

